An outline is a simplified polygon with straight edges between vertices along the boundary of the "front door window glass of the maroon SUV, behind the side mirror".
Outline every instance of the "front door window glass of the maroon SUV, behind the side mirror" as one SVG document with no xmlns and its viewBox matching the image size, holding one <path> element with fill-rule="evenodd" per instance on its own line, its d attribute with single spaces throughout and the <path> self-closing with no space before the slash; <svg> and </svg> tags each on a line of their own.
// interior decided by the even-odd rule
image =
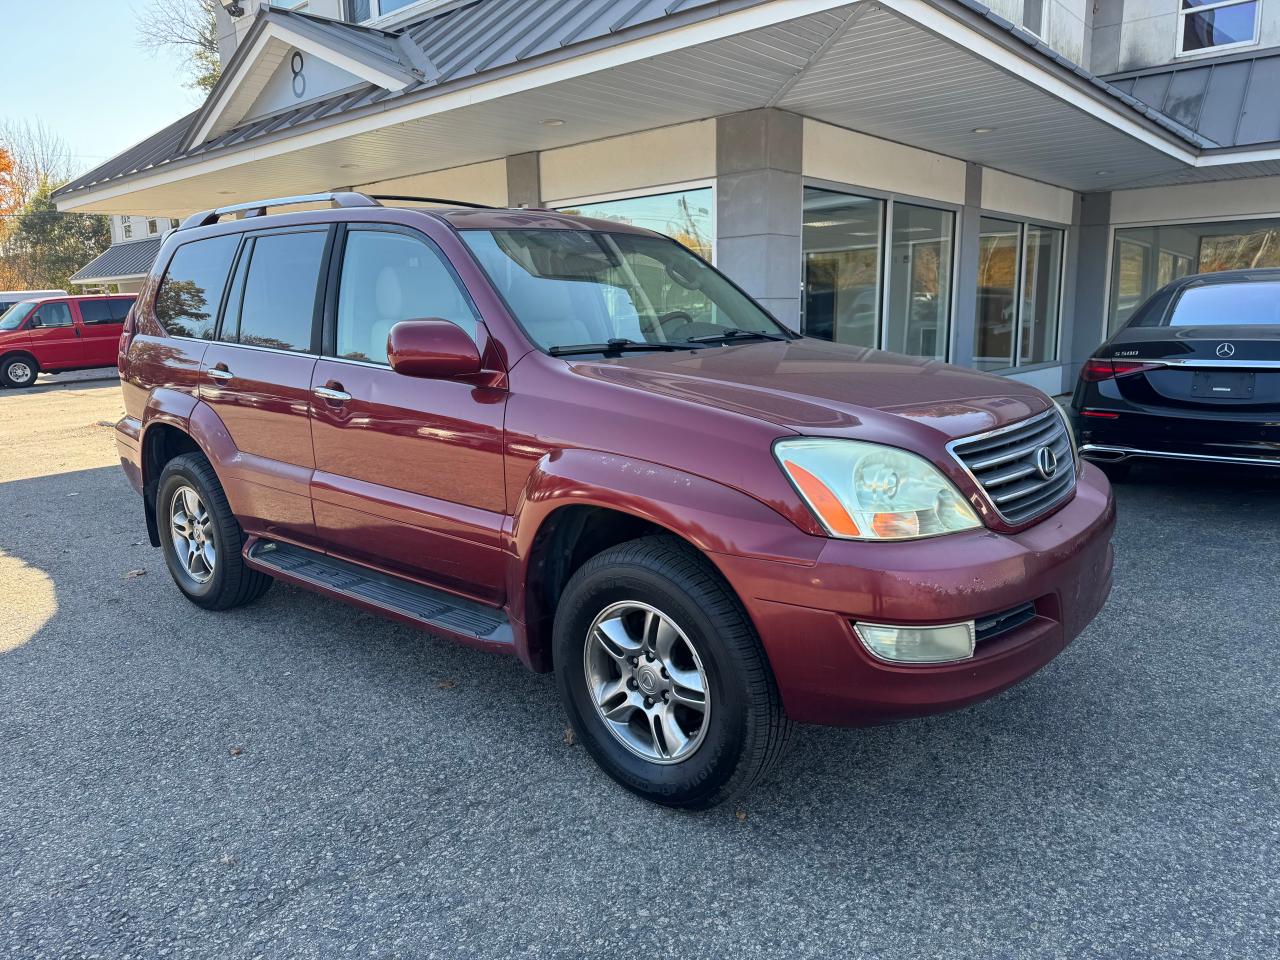
<svg viewBox="0 0 1280 960">
<path fill-rule="evenodd" d="M 351 230 L 338 285 L 337 356 L 385 364 L 392 326 L 428 317 L 476 334 L 476 315 L 442 255 L 403 233 Z"/>
</svg>

